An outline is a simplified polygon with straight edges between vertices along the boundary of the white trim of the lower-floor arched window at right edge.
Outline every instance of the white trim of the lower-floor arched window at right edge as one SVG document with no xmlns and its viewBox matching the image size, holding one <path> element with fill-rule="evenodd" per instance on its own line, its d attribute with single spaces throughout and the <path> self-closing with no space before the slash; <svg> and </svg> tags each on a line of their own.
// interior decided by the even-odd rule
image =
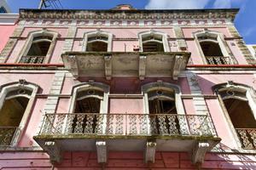
<svg viewBox="0 0 256 170">
<path fill-rule="evenodd" d="M 220 94 L 218 94 L 218 92 L 220 92 L 220 91 L 226 91 L 226 90 L 230 90 L 230 89 L 246 93 L 247 99 L 244 99 L 241 97 L 236 97 L 236 96 L 233 98 L 248 101 L 248 105 L 250 106 L 253 116 L 256 120 L 256 101 L 255 101 L 256 93 L 255 93 L 255 90 L 251 87 L 248 87 L 247 85 L 243 85 L 243 84 L 235 83 L 235 82 L 227 82 L 227 83 L 217 84 L 212 87 L 212 90 L 214 91 L 214 93 L 218 95 L 218 101 L 222 108 L 222 111 L 224 112 L 224 117 L 230 127 L 230 131 L 232 133 L 233 139 L 235 139 L 236 150 L 239 150 L 241 152 L 256 153 L 256 150 L 244 150 L 242 148 L 241 140 L 239 139 L 239 136 L 236 133 L 236 128 L 234 127 L 233 123 L 231 122 L 229 112 L 226 110 L 226 107 L 224 105 L 224 101 L 223 101 L 222 97 L 220 96 Z"/>
</svg>

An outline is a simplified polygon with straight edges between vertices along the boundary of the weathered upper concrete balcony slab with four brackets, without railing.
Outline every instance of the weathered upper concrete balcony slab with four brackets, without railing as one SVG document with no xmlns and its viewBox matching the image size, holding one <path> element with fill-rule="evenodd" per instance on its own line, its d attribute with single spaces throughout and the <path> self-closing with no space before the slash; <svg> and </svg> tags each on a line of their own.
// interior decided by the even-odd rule
<svg viewBox="0 0 256 170">
<path fill-rule="evenodd" d="M 172 77 L 177 80 L 189 61 L 185 52 L 67 52 L 65 68 L 73 77 Z"/>
</svg>

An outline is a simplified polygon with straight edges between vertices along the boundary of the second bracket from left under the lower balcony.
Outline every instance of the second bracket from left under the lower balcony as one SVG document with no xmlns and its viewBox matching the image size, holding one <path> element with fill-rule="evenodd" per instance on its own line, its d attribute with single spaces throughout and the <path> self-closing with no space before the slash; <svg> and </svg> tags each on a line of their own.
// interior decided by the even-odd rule
<svg viewBox="0 0 256 170">
<path fill-rule="evenodd" d="M 107 142 L 104 140 L 96 141 L 96 152 L 98 163 L 107 163 L 108 160 L 108 150 Z"/>
</svg>

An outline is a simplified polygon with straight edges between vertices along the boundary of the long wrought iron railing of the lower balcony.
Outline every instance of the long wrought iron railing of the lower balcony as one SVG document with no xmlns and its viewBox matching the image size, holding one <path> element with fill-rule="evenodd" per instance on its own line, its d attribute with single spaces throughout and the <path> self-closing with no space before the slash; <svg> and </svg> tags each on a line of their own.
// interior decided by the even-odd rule
<svg viewBox="0 0 256 170">
<path fill-rule="evenodd" d="M 209 116 L 177 114 L 46 114 L 40 134 L 214 136 Z"/>
</svg>

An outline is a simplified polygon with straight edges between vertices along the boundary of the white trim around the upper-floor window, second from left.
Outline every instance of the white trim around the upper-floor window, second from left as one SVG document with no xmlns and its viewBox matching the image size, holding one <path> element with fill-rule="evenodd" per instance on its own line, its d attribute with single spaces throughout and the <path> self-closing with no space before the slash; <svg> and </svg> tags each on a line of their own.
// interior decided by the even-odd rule
<svg viewBox="0 0 256 170">
<path fill-rule="evenodd" d="M 97 36 L 108 37 L 108 41 L 103 41 L 103 40 L 98 40 L 98 41 L 108 43 L 108 52 L 111 52 L 112 51 L 113 34 L 108 31 L 101 31 L 101 30 L 89 31 L 89 32 L 84 33 L 84 41 L 83 41 L 82 51 L 84 52 L 87 50 L 86 48 L 87 48 L 88 38 L 89 37 L 97 37 Z"/>
</svg>

